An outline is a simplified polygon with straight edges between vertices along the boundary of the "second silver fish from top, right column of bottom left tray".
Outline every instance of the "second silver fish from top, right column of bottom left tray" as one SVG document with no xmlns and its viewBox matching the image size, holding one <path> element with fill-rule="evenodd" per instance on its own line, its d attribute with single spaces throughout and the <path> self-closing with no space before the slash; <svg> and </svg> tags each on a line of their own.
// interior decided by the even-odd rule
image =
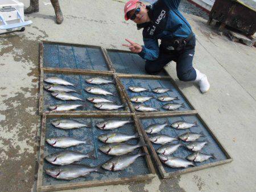
<svg viewBox="0 0 256 192">
<path fill-rule="evenodd" d="M 134 135 L 127 135 L 126 133 L 106 133 L 98 136 L 98 139 L 103 143 L 121 143 L 138 137 L 140 137 L 138 133 Z"/>
</svg>

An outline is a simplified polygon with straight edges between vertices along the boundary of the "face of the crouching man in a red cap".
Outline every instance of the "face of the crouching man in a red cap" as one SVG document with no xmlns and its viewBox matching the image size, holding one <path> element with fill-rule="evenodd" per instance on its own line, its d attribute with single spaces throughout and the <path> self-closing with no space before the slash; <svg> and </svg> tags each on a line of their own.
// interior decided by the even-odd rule
<svg viewBox="0 0 256 192">
<path fill-rule="evenodd" d="M 140 11 L 139 12 L 136 12 L 136 10 L 138 9 L 138 7 L 141 7 Z M 135 12 L 137 14 L 135 14 Z M 137 24 L 141 24 L 141 23 L 146 23 L 146 22 L 149 22 L 150 19 L 148 17 L 148 14 L 147 14 L 147 9 L 146 9 L 146 6 L 144 5 L 144 3 L 141 3 L 141 2 L 138 2 L 137 3 L 137 7 L 131 11 L 129 11 L 128 13 L 128 16 L 129 18 L 131 19 L 131 17 L 135 14 L 135 19 L 133 20 L 135 23 Z"/>
</svg>

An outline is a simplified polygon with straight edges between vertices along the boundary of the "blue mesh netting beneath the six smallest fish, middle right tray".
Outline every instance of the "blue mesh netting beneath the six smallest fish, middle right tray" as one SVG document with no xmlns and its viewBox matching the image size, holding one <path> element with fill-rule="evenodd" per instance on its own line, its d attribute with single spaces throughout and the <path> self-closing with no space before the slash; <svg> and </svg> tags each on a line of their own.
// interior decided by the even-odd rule
<svg viewBox="0 0 256 192">
<path fill-rule="evenodd" d="M 154 96 L 155 98 L 168 95 L 170 97 L 178 97 L 179 100 L 171 101 L 171 102 L 161 102 L 158 99 L 150 99 L 150 101 L 144 102 L 144 105 L 148 105 L 151 107 L 156 108 L 159 111 L 168 111 L 162 108 L 163 105 L 166 105 L 167 103 L 184 103 L 185 108 L 178 108 L 177 110 L 184 111 L 184 110 L 191 110 L 188 103 L 185 102 L 184 98 L 181 96 L 179 91 L 175 89 L 175 87 L 171 84 L 171 81 L 169 80 L 150 80 L 150 79 L 141 79 L 141 78 L 121 78 L 121 82 L 123 86 L 125 87 L 125 90 L 128 93 L 129 98 L 142 95 L 142 96 Z M 134 93 L 133 91 L 129 90 L 129 86 L 141 86 L 148 90 L 154 89 L 156 87 L 164 87 L 172 90 L 172 92 L 168 91 L 167 93 L 158 94 L 154 93 L 152 91 L 143 91 L 141 93 Z M 134 105 L 140 104 L 140 103 L 133 103 Z M 175 111 L 177 111 L 175 110 Z"/>
</svg>

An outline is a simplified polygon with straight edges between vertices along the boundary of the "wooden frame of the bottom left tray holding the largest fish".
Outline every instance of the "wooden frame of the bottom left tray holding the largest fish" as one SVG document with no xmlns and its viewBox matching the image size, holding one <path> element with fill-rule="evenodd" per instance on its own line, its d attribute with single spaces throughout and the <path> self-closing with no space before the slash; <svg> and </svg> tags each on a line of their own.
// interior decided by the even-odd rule
<svg viewBox="0 0 256 192">
<path fill-rule="evenodd" d="M 98 114 L 98 113 L 91 113 L 91 114 L 82 114 L 82 113 L 63 113 L 63 114 L 43 114 L 42 118 L 42 130 L 41 130 L 41 140 L 40 140 L 40 153 L 39 153 L 39 169 L 38 169 L 38 183 L 37 183 L 37 190 L 38 191 L 53 191 L 53 190 L 64 190 L 64 189 L 75 189 L 79 187 L 92 187 L 92 186 L 102 186 L 102 185 L 118 185 L 125 182 L 133 182 L 133 181 L 144 181 L 144 180 L 150 180 L 155 177 L 155 169 L 152 164 L 151 158 L 149 155 L 147 155 L 146 162 L 147 162 L 147 168 L 149 171 L 149 174 L 141 175 L 141 176 L 133 176 L 133 177 L 127 177 L 127 178 L 116 178 L 112 180 L 100 180 L 100 181 L 86 181 L 86 182 L 77 182 L 77 183 L 65 183 L 65 184 L 57 184 L 52 186 L 43 186 L 43 164 L 44 164 L 44 141 L 46 137 L 46 119 L 47 118 L 56 118 L 56 117 L 72 117 L 72 118 L 104 118 L 104 117 L 130 117 L 134 119 L 134 127 L 135 130 L 138 131 L 139 135 L 142 135 L 141 129 L 139 128 L 138 119 L 135 117 L 134 114 L 127 114 L 127 113 L 121 113 L 121 114 Z M 143 151 L 145 153 L 148 153 L 147 147 L 142 147 Z M 149 154 L 149 153 L 148 153 Z"/>
</svg>

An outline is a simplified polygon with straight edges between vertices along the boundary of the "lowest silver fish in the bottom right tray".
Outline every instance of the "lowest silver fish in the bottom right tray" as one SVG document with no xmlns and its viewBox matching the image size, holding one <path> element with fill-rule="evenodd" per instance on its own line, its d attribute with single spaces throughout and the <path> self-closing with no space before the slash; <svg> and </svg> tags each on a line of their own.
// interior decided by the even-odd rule
<svg viewBox="0 0 256 192">
<path fill-rule="evenodd" d="M 159 154 L 158 157 L 164 162 L 164 164 L 170 166 L 171 168 L 187 168 L 189 165 L 195 166 L 193 162 L 185 160 L 184 158 L 164 156 L 162 154 Z"/>
</svg>

